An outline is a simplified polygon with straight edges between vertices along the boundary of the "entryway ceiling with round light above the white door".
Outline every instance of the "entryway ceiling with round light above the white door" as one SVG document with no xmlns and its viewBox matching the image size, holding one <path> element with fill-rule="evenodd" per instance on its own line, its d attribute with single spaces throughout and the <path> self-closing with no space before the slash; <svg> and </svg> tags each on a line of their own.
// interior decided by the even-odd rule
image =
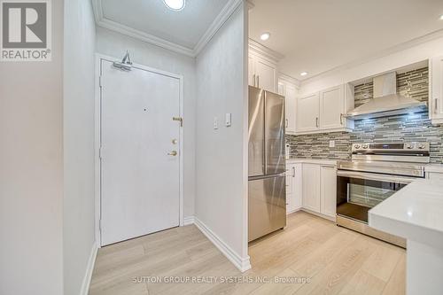
<svg viewBox="0 0 443 295">
<path fill-rule="evenodd" d="M 102 17 L 193 50 L 229 0 L 186 0 L 183 11 L 167 8 L 163 0 L 95 0 Z"/>
</svg>

